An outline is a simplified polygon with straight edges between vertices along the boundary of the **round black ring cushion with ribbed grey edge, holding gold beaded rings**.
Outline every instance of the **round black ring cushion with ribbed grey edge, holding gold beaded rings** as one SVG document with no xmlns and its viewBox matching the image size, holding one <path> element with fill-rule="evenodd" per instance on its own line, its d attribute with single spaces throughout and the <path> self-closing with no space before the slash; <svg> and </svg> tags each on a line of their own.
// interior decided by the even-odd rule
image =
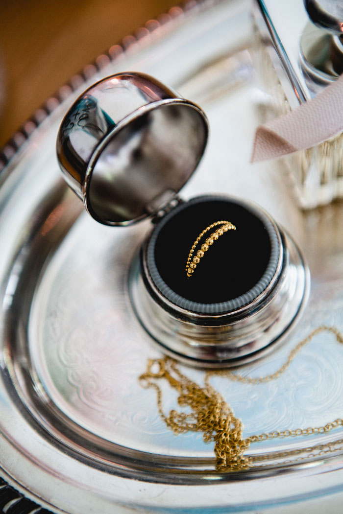
<svg viewBox="0 0 343 514">
<path fill-rule="evenodd" d="M 187 278 L 194 241 L 221 220 L 236 230 L 215 240 Z M 219 227 L 206 232 L 193 256 Z M 280 251 L 277 229 L 262 210 L 225 196 L 199 196 L 156 225 L 147 246 L 147 264 L 155 286 L 169 301 L 194 313 L 215 315 L 254 301 L 273 279 Z"/>
</svg>

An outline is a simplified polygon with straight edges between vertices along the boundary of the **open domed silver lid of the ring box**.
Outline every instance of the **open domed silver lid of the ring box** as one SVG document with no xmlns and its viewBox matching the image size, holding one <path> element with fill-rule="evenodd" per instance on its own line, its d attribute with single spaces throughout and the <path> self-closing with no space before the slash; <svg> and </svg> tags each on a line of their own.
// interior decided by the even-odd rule
<svg viewBox="0 0 343 514">
<path fill-rule="evenodd" d="M 165 208 L 200 161 L 200 107 L 154 78 L 128 72 L 88 88 L 60 126 L 68 185 L 100 223 L 128 225 Z"/>
</svg>

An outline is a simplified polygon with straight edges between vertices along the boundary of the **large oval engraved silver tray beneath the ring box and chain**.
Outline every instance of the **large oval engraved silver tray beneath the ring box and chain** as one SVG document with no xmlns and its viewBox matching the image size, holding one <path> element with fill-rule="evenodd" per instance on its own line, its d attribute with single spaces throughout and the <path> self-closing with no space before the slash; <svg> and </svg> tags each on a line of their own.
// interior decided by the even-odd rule
<svg viewBox="0 0 343 514">
<path fill-rule="evenodd" d="M 311 269 L 310 299 L 296 330 L 239 372 L 273 373 L 316 327 L 342 328 L 342 206 L 302 213 L 280 167 L 249 163 L 263 98 L 250 11 L 248 1 L 225 0 L 173 9 L 154 30 L 142 29 L 125 40 L 127 48 L 112 47 L 85 77 L 74 78 L 5 148 L 0 474 L 54 512 L 340 509 L 341 427 L 251 444 L 251 467 L 225 473 L 215 471 L 213 443 L 201 433 L 174 435 L 166 427 L 154 391 L 138 382 L 148 358 L 160 353 L 129 295 L 130 263 L 150 222 L 94 222 L 64 185 L 55 154 L 64 113 L 96 80 L 136 70 L 176 88 L 205 109 L 211 127 L 205 157 L 182 196 L 220 192 L 259 203 L 297 240 Z M 321 427 L 341 415 L 342 367 L 343 346 L 323 332 L 277 380 L 251 385 L 213 377 L 212 384 L 243 420 L 245 436 Z M 204 372 L 180 369 L 203 383 Z M 162 385 L 168 412 L 177 395 Z"/>
</svg>

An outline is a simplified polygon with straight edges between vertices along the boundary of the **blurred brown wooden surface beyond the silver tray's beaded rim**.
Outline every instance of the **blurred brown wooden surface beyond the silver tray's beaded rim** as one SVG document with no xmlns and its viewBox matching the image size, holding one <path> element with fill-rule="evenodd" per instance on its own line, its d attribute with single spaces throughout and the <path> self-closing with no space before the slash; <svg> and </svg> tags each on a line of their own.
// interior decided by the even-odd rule
<svg viewBox="0 0 343 514">
<path fill-rule="evenodd" d="M 1 2 L 0 147 L 48 97 L 175 0 Z"/>
</svg>

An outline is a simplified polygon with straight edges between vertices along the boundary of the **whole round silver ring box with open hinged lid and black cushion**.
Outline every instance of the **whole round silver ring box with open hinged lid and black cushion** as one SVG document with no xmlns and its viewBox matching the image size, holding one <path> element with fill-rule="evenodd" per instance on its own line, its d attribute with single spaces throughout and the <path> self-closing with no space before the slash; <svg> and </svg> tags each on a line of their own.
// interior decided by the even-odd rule
<svg viewBox="0 0 343 514">
<path fill-rule="evenodd" d="M 287 335 L 307 299 L 309 271 L 292 237 L 257 205 L 223 194 L 177 196 L 206 140 L 200 107 L 131 72 L 85 91 L 62 122 L 57 148 L 67 182 L 97 221 L 152 218 L 129 284 L 146 331 L 185 363 L 235 366 Z M 215 241 L 187 279 L 193 242 L 221 219 L 237 230 Z"/>
</svg>

